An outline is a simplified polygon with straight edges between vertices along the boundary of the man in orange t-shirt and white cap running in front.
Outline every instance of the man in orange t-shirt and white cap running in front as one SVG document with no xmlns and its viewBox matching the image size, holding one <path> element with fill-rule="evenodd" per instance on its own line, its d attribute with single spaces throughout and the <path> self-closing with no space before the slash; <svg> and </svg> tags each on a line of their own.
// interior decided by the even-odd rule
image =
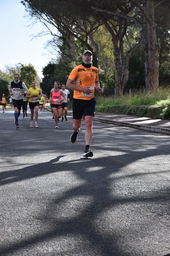
<svg viewBox="0 0 170 256">
<path fill-rule="evenodd" d="M 77 134 L 80 131 L 82 116 L 85 116 L 85 152 L 83 157 L 93 157 L 90 150 L 92 138 L 92 125 L 95 113 L 96 100 L 94 99 L 94 89 L 99 94 L 103 93 L 100 88 L 98 69 L 91 65 L 93 59 L 92 52 L 86 50 L 82 54 L 82 64 L 75 67 L 68 77 L 66 87 L 74 90 L 73 96 L 73 134 L 71 143 L 77 140 Z"/>
</svg>

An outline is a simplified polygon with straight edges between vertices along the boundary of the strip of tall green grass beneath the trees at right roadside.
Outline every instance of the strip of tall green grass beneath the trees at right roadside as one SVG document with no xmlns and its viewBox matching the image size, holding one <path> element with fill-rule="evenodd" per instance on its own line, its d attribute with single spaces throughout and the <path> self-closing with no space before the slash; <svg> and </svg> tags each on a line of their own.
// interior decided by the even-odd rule
<svg viewBox="0 0 170 256">
<path fill-rule="evenodd" d="M 170 87 L 160 87 L 159 91 L 152 93 L 142 93 L 139 91 L 134 94 L 126 94 L 121 98 L 98 96 L 96 98 L 96 106 L 102 106 L 105 108 L 110 108 L 113 105 L 132 105 L 132 106 L 142 106 L 142 105 L 157 105 L 157 106 L 167 106 L 170 104 Z"/>
</svg>

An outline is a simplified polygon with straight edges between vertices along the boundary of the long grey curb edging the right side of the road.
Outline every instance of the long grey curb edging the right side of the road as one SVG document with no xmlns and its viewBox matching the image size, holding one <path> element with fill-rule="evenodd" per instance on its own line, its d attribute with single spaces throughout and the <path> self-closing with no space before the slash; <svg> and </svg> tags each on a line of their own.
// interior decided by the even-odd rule
<svg viewBox="0 0 170 256">
<path fill-rule="evenodd" d="M 169 128 L 162 128 L 162 127 L 157 127 L 157 126 L 150 126 L 150 125 L 137 125 L 134 123 L 130 122 L 120 122 L 120 121 L 114 121 L 111 119 L 104 119 L 104 118 L 98 118 L 94 117 L 94 121 L 97 122 L 104 122 L 107 124 L 112 124 L 112 125 L 120 125 L 120 126 L 125 126 L 129 128 L 134 128 L 134 129 L 139 129 L 139 130 L 144 130 L 144 131 L 151 131 L 151 132 L 156 132 L 160 134 L 166 134 L 170 135 L 170 129 Z"/>
</svg>

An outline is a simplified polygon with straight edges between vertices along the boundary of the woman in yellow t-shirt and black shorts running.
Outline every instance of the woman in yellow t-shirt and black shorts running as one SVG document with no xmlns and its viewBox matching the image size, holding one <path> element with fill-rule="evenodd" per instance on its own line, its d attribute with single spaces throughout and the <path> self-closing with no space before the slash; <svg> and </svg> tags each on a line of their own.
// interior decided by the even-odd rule
<svg viewBox="0 0 170 256">
<path fill-rule="evenodd" d="M 32 81 L 31 88 L 29 88 L 26 97 L 29 99 L 29 108 L 31 111 L 31 124 L 30 127 L 34 127 L 34 111 L 35 111 L 35 128 L 38 128 L 37 120 L 38 120 L 38 110 L 39 110 L 39 98 L 41 95 L 40 88 L 36 87 L 36 82 Z"/>
</svg>

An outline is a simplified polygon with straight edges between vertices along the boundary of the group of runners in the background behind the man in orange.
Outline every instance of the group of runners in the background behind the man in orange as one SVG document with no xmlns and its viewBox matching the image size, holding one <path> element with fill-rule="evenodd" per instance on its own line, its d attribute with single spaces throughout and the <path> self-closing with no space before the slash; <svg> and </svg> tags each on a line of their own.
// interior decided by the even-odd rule
<svg viewBox="0 0 170 256">
<path fill-rule="evenodd" d="M 20 128 L 18 117 L 21 113 L 21 108 L 23 108 L 23 118 L 27 117 L 27 107 L 29 105 L 30 108 L 30 118 L 31 128 L 39 128 L 38 126 L 38 114 L 45 113 L 45 105 L 48 103 L 51 106 L 51 112 L 53 113 L 53 119 L 55 119 L 55 128 L 59 128 L 58 122 L 59 118 L 62 116 L 62 122 L 65 117 L 65 121 L 67 121 L 67 109 L 68 109 L 68 94 L 70 93 L 69 90 L 65 89 L 65 85 L 62 84 L 62 88 L 60 88 L 59 82 L 54 82 L 54 88 L 50 91 L 50 99 L 45 97 L 41 93 L 39 87 L 35 81 L 32 81 L 31 87 L 27 89 L 26 84 L 20 81 L 19 74 L 14 75 L 14 81 L 9 84 L 9 94 L 10 99 L 12 99 L 12 107 L 14 107 L 14 117 L 15 117 L 15 125 L 16 128 Z M 6 108 L 7 98 L 3 94 L 1 99 L 1 104 L 3 105 L 3 113 L 4 108 Z M 11 107 L 11 108 L 12 108 Z M 64 114 L 64 117 L 63 117 Z"/>
</svg>

